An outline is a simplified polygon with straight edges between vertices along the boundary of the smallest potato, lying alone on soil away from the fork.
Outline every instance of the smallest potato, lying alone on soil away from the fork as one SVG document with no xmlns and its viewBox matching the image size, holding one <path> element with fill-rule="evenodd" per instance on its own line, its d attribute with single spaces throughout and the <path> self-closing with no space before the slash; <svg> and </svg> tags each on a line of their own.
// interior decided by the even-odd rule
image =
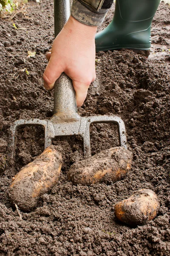
<svg viewBox="0 0 170 256">
<path fill-rule="evenodd" d="M 140 189 L 114 207 L 115 215 L 120 221 L 136 226 L 146 224 L 156 217 L 159 202 L 151 189 Z"/>
</svg>

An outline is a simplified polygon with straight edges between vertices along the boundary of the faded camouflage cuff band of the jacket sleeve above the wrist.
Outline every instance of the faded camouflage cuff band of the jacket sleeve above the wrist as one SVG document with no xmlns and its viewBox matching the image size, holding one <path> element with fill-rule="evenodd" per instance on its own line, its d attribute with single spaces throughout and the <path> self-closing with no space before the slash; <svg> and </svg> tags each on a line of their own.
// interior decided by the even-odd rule
<svg viewBox="0 0 170 256">
<path fill-rule="evenodd" d="M 102 24 L 107 12 L 108 9 L 100 9 L 97 11 L 81 0 L 73 0 L 71 6 L 71 16 L 88 26 L 99 26 Z"/>
</svg>

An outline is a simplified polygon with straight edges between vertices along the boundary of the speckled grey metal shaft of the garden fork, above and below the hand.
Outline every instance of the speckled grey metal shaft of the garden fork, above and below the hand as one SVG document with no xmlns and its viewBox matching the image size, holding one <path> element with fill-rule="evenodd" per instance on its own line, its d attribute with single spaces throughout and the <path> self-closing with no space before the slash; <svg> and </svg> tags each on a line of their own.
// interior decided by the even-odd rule
<svg viewBox="0 0 170 256">
<path fill-rule="evenodd" d="M 70 17 L 70 0 L 54 0 L 55 37 Z M 74 121 L 77 114 L 76 93 L 70 78 L 62 73 L 54 86 L 54 116 L 63 116 L 63 121 Z M 54 119 L 54 118 L 53 118 Z M 77 118 L 76 118 L 77 119 Z"/>
</svg>

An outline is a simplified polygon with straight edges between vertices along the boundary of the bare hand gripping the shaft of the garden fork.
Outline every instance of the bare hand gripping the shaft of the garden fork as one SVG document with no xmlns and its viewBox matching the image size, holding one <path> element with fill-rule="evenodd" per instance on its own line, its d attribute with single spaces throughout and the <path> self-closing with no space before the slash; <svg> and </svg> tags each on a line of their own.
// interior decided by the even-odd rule
<svg viewBox="0 0 170 256">
<path fill-rule="evenodd" d="M 97 27 L 84 25 L 70 16 L 55 38 L 51 53 L 46 55 L 49 62 L 43 74 L 44 87 L 53 89 L 55 81 L 65 72 L 73 81 L 78 107 L 83 104 L 88 87 L 96 78 L 96 30 Z"/>
</svg>

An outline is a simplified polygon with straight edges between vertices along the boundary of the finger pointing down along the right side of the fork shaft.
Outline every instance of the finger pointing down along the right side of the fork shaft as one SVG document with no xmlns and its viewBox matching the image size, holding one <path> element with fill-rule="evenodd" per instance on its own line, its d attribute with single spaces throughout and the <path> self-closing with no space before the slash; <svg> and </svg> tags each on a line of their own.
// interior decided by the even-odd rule
<svg viewBox="0 0 170 256">
<path fill-rule="evenodd" d="M 90 83 L 83 84 L 73 81 L 73 87 L 76 92 L 77 107 L 81 107 L 83 105 L 83 102 L 87 96 L 89 85 Z"/>
</svg>

